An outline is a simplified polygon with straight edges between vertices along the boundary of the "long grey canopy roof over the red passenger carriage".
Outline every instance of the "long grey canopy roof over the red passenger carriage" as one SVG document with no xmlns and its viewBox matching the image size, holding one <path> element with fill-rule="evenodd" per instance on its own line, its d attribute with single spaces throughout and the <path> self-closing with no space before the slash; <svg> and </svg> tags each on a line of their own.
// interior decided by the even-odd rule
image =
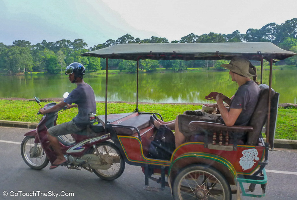
<svg viewBox="0 0 297 200">
<path fill-rule="evenodd" d="M 123 60 L 231 60 L 243 56 L 249 60 L 283 60 L 296 55 L 271 42 L 251 43 L 150 43 L 118 44 L 90 51 L 82 56 Z"/>
</svg>

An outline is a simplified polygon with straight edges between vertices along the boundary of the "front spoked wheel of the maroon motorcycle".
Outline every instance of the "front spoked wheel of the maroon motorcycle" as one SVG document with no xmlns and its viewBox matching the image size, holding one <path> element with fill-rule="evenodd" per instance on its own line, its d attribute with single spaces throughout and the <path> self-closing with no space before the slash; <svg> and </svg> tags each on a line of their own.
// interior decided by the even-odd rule
<svg viewBox="0 0 297 200">
<path fill-rule="evenodd" d="M 48 157 L 40 143 L 34 143 L 34 136 L 26 136 L 20 146 L 23 160 L 32 169 L 43 169 L 48 165 Z"/>
</svg>

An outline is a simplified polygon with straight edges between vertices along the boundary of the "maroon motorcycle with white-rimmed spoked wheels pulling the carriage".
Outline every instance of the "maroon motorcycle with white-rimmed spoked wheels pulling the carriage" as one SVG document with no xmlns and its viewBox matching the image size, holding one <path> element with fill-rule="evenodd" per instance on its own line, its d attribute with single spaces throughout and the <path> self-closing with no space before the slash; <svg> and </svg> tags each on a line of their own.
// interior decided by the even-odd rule
<svg viewBox="0 0 297 200">
<path fill-rule="evenodd" d="M 40 105 L 40 100 L 34 97 Z M 65 98 L 65 96 L 64 96 Z M 49 109 L 56 103 L 48 103 L 43 109 Z M 40 105 L 42 108 L 42 106 Z M 59 112 L 66 110 L 66 106 Z M 47 130 L 56 125 L 58 113 L 52 112 L 42 116 L 35 130 L 27 132 L 21 143 L 21 155 L 25 163 L 32 169 L 40 170 L 48 163 L 56 160 L 56 154 L 50 146 Z M 40 114 L 39 112 L 37 114 Z M 94 117 L 90 118 L 94 121 Z M 125 168 L 125 161 L 118 147 L 110 140 L 110 133 L 106 133 L 102 124 L 93 124 L 86 129 L 57 137 L 68 169 L 94 172 L 105 180 L 113 180 L 121 176 Z"/>
</svg>

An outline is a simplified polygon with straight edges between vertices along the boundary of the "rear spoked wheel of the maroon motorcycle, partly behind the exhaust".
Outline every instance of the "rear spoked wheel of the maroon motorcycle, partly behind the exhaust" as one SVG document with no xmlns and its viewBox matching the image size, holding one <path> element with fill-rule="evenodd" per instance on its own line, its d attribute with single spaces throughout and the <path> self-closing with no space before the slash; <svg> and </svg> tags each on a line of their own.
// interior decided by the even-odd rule
<svg viewBox="0 0 297 200">
<path fill-rule="evenodd" d="M 108 156 L 110 159 L 110 167 L 108 169 L 92 169 L 94 173 L 101 179 L 114 180 L 119 178 L 125 169 L 125 161 L 119 149 L 112 142 L 106 141 L 97 145 L 100 155 Z M 93 153 L 96 154 L 95 149 Z M 107 160 L 107 159 L 105 159 Z"/>
</svg>

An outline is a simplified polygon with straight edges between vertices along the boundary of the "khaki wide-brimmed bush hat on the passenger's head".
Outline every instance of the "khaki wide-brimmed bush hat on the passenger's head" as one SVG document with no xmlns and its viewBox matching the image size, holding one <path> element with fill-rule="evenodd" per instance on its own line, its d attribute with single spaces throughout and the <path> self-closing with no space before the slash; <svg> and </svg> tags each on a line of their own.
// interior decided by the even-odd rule
<svg viewBox="0 0 297 200">
<path fill-rule="evenodd" d="M 249 65 L 250 62 L 247 58 L 234 57 L 229 64 L 222 64 L 221 66 L 245 77 L 255 76 L 255 71 Z"/>
</svg>

